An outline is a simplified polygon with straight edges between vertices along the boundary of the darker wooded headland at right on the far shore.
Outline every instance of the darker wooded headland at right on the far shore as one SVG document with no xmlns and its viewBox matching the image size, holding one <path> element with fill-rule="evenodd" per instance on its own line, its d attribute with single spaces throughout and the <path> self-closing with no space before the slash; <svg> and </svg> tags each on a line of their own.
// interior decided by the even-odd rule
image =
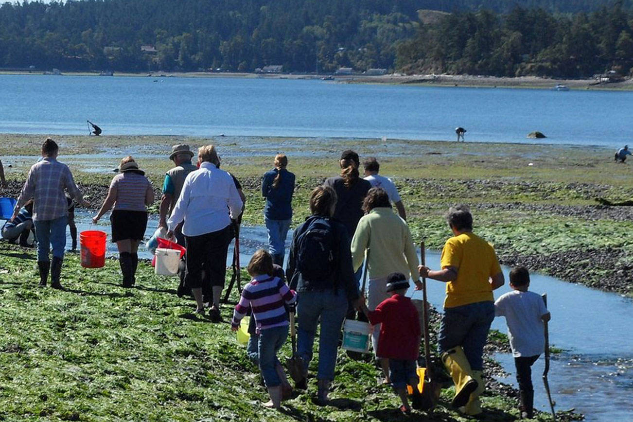
<svg viewBox="0 0 633 422">
<path fill-rule="evenodd" d="M 398 46 L 408 73 L 589 77 L 633 66 L 633 13 L 622 2 L 592 13 L 515 8 L 451 13 Z"/>
</svg>

